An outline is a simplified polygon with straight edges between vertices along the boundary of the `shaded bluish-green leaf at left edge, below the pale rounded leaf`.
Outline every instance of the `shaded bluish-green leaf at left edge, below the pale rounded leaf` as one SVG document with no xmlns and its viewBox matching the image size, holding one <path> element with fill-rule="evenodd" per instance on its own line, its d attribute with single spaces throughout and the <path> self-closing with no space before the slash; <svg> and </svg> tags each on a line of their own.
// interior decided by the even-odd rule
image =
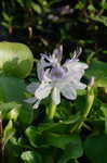
<svg viewBox="0 0 107 163">
<path fill-rule="evenodd" d="M 21 101 L 25 99 L 26 85 L 15 77 L 0 77 L 0 101 Z"/>
</svg>

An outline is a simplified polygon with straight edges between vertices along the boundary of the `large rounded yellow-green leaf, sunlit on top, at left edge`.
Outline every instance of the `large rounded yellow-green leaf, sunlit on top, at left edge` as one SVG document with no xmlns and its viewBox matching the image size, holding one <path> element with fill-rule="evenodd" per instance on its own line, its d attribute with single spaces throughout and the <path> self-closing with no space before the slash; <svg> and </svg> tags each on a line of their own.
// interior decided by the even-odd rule
<svg viewBox="0 0 107 163">
<path fill-rule="evenodd" d="M 34 57 L 26 45 L 0 42 L 0 71 L 5 76 L 25 78 L 30 74 L 32 64 Z"/>
</svg>

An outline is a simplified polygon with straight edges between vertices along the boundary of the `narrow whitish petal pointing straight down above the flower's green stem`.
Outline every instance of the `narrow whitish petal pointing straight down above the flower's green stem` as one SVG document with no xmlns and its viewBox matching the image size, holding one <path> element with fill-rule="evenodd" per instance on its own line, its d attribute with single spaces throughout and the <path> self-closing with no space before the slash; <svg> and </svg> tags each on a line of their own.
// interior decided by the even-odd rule
<svg viewBox="0 0 107 163">
<path fill-rule="evenodd" d="M 57 89 L 56 87 L 53 89 L 52 100 L 53 100 L 53 103 L 55 103 L 56 105 L 61 103 L 59 89 Z"/>
</svg>

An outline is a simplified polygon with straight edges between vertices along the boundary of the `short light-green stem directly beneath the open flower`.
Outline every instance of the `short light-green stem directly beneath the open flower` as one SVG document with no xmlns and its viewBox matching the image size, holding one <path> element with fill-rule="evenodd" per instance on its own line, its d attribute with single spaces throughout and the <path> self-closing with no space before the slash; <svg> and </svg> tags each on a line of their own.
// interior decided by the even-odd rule
<svg viewBox="0 0 107 163">
<path fill-rule="evenodd" d="M 56 104 L 52 103 L 51 108 L 49 108 L 48 110 L 49 120 L 53 120 L 55 112 L 56 112 Z"/>
</svg>

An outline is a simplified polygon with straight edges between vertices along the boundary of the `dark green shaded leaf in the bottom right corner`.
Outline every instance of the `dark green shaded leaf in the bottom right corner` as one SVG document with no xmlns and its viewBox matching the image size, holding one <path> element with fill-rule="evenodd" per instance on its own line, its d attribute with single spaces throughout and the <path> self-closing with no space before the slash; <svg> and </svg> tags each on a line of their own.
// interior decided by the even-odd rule
<svg viewBox="0 0 107 163">
<path fill-rule="evenodd" d="M 84 150 L 91 163 L 107 163 L 107 135 L 88 138 Z"/>
</svg>

